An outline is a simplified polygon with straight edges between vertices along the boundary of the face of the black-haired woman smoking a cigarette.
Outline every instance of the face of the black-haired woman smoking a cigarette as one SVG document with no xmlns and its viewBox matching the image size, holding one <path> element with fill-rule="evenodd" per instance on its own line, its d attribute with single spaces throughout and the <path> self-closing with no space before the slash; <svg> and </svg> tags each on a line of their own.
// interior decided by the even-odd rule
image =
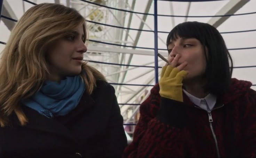
<svg viewBox="0 0 256 158">
<path fill-rule="evenodd" d="M 201 42 L 195 38 L 180 38 L 170 41 L 168 44 L 168 59 L 179 54 L 180 58 L 177 66 L 184 61 L 187 66 L 184 68 L 188 72 L 184 80 L 200 77 L 206 70 L 206 59 Z"/>
</svg>

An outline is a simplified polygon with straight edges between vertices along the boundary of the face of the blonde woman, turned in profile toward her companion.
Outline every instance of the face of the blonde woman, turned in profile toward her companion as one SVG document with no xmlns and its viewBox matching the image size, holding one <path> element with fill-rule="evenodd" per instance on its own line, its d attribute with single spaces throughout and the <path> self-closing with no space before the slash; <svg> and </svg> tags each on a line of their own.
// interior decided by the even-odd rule
<svg viewBox="0 0 256 158">
<path fill-rule="evenodd" d="M 87 47 L 83 42 L 85 34 L 83 25 L 79 25 L 72 32 L 59 39 L 47 52 L 50 80 L 60 80 L 66 76 L 81 73 L 83 53 Z"/>
</svg>

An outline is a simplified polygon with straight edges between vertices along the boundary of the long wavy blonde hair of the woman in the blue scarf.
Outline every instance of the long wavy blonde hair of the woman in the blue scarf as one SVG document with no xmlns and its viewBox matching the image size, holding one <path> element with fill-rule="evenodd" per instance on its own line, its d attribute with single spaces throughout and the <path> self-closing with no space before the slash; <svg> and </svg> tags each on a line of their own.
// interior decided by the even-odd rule
<svg viewBox="0 0 256 158">
<path fill-rule="evenodd" d="M 13 112 L 22 126 L 28 122 L 21 109 L 21 100 L 31 97 L 46 80 L 49 74 L 46 50 L 51 43 L 63 38 L 81 24 L 88 38 L 85 19 L 79 12 L 54 3 L 36 5 L 19 19 L 11 31 L 0 60 L 1 127 L 7 125 Z M 87 63 L 82 64 L 82 69 L 86 75 L 81 72 L 80 76 L 88 94 L 93 92 L 97 80 L 106 81 L 98 70 Z"/>
</svg>

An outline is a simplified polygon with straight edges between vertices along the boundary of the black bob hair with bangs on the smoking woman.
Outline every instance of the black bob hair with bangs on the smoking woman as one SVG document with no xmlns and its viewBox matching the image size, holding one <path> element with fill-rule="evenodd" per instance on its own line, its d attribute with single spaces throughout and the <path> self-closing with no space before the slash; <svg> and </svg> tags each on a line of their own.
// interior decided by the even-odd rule
<svg viewBox="0 0 256 158">
<path fill-rule="evenodd" d="M 195 38 L 201 42 L 206 58 L 206 85 L 205 91 L 221 95 L 227 91 L 231 84 L 233 61 L 226 44 L 218 30 L 200 22 L 184 22 L 178 24 L 168 34 L 166 45 L 170 40 L 180 38 Z M 208 58 L 206 56 L 208 49 Z"/>
</svg>

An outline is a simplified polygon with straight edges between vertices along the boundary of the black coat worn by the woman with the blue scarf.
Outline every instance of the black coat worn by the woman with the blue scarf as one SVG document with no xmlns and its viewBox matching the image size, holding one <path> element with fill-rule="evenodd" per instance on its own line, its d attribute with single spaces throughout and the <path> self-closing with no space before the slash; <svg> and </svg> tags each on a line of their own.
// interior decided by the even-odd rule
<svg viewBox="0 0 256 158">
<path fill-rule="evenodd" d="M 0 157 L 121 157 L 127 145 L 113 86 L 98 82 L 93 94 L 53 119 L 22 106 L 29 122 L 20 126 L 15 114 L 0 128 Z"/>
</svg>

